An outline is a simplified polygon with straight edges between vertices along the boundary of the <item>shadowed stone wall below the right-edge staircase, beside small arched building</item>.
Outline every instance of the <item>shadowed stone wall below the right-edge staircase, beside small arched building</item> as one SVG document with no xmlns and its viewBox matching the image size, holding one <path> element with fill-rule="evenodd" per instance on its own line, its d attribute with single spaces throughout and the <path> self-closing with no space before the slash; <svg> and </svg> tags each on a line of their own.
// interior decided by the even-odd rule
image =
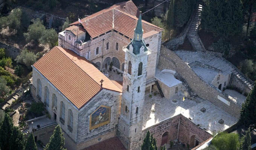
<svg viewBox="0 0 256 150">
<path fill-rule="evenodd" d="M 235 74 L 231 74 L 229 86 L 241 90 L 242 94 L 248 94 L 251 91 L 251 89 L 242 80 L 236 77 Z"/>
</svg>

